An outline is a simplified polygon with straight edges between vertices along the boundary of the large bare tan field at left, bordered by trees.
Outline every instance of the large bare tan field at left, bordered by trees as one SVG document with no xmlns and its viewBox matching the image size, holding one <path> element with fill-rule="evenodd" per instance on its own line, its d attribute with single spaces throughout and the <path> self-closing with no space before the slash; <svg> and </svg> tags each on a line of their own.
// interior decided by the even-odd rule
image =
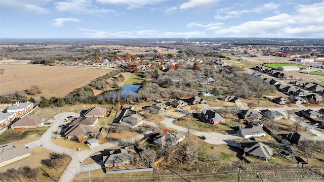
<svg viewBox="0 0 324 182">
<path fill-rule="evenodd" d="M 1 65 L 1 69 L 5 71 L 0 79 L 0 95 L 38 85 L 43 90 L 38 96 L 47 98 L 64 97 L 109 72 L 105 69 L 45 65 Z"/>
</svg>

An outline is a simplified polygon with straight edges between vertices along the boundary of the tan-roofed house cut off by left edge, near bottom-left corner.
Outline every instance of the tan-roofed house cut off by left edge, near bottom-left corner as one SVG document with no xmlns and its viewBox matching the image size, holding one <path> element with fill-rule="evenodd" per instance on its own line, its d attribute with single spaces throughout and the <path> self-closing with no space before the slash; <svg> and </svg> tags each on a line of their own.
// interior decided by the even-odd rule
<svg viewBox="0 0 324 182">
<path fill-rule="evenodd" d="M 0 146 L 0 167 L 11 164 L 31 155 L 30 149 L 25 146 Z"/>
</svg>

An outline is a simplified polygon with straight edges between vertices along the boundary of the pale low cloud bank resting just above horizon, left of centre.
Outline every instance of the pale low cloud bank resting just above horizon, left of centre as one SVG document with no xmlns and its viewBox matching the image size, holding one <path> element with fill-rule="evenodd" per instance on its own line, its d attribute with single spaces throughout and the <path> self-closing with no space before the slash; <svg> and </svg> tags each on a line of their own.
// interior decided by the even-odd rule
<svg viewBox="0 0 324 182">
<path fill-rule="evenodd" d="M 132 33 L 128 31 L 118 31 L 111 33 L 103 30 L 91 30 L 87 28 L 79 28 L 79 30 L 85 32 L 84 34 L 89 38 L 135 38 L 134 36 L 132 36 Z"/>
</svg>

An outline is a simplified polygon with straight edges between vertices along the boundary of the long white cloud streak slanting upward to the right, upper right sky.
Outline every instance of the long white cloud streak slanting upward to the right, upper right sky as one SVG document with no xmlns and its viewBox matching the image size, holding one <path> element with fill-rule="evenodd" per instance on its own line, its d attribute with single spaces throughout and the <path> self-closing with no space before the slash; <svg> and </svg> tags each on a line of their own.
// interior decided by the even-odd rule
<svg viewBox="0 0 324 182">
<path fill-rule="evenodd" d="M 216 19 L 216 20 L 227 20 L 227 19 L 230 19 L 230 18 L 240 17 L 242 14 L 263 13 L 263 12 L 266 12 L 266 11 L 272 11 L 272 10 L 278 9 L 279 7 L 280 7 L 279 4 L 268 3 L 268 4 L 264 4 L 261 7 L 253 8 L 251 10 L 228 11 L 227 9 L 220 9 L 218 11 L 218 14 L 214 16 L 214 19 Z M 222 15 L 222 13 L 224 13 L 225 15 Z"/>
</svg>

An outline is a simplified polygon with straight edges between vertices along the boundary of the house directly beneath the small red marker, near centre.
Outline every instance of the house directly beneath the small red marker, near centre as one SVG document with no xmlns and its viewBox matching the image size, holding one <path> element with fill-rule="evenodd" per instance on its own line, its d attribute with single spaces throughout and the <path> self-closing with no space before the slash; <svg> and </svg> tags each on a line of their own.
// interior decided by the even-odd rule
<svg viewBox="0 0 324 182">
<path fill-rule="evenodd" d="M 186 136 L 182 132 L 175 133 L 161 133 L 154 138 L 154 145 L 163 147 L 167 142 L 170 142 L 172 145 L 176 145 L 181 142 Z"/>
</svg>

